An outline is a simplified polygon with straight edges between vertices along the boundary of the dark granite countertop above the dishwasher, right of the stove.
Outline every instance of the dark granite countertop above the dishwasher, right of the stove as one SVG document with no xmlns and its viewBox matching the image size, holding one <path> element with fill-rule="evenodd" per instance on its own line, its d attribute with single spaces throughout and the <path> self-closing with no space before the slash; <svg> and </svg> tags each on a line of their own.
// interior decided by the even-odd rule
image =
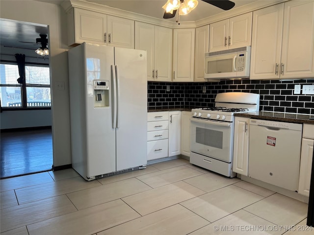
<svg viewBox="0 0 314 235">
<path fill-rule="evenodd" d="M 272 120 L 272 121 L 285 121 L 293 123 L 308 123 L 314 124 L 313 115 L 303 115 L 303 114 L 286 114 L 286 113 L 276 113 L 276 112 L 252 112 L 245 114 L 235 114 L 235 117 L 246 117 L 246 118 L 256 118 L 263 120 Z"/>
</svg>

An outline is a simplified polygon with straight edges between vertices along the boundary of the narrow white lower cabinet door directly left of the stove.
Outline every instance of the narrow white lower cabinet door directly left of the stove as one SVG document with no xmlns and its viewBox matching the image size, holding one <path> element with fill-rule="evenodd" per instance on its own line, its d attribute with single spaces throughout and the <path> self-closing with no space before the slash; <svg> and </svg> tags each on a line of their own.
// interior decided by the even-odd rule
<svg viewBox="0 0 314 235">
<path fill-rule="evenodd" d="M 189 111 L 181 112 L 181 154 L 190 156 L 190 118 L 192 113 Z"/>
</svg>

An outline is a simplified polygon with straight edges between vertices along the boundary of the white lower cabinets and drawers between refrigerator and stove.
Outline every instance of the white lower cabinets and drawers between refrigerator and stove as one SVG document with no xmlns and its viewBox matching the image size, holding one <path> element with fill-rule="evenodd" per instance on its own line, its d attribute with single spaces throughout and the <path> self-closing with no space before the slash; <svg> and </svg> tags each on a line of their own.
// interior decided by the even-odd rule
<svg viewBox="0 0 314 235">
<path fill-rule="evenodd" d="M 189 156 L 191 112 L 162 111 L 147 114 L 147 160 Z"/>
</svg>

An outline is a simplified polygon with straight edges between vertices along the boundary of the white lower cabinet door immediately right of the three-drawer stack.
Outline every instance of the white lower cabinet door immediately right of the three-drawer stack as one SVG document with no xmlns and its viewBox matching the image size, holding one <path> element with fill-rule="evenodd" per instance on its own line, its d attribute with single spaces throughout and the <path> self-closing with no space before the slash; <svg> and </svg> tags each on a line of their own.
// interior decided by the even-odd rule
<svg viewBox="0 0 314 235">
<path fill-rule="evenodd" d="M 169 149 L 168 156 L 181 154 L 181 111 L 169 112 Z"/>
</svg>

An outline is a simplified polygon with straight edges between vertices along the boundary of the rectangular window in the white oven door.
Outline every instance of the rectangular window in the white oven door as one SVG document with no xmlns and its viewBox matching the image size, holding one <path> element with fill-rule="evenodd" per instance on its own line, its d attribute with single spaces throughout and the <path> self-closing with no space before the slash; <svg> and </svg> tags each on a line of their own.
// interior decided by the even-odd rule
<svg viewBox="0 0 314 235">
<path fill-rule="evenodd" d="M 196 139 L 197 143 L 207 145 L 214 148 L 222 149 L 223 132 L 215 131 L 206 128 L 196 127 Z"/>
</svg>

